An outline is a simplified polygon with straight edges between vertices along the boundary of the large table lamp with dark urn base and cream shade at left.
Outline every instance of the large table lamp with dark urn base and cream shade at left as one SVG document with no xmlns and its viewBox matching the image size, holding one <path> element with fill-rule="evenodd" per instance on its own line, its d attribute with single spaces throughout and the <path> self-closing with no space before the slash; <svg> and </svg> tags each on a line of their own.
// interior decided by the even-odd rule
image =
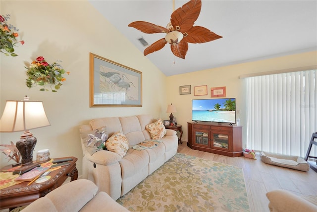
<svg viewBox="0 0 317 212">
<path fill-rule="evenodd" d="M 28 97 L 25 96 L 23 101 L 6 101 L 0 119 L 0 132 L 24 131 L 21 139 L 15 144 L 21 154 L 23 167 L 23 165 L 32 164 L 33 150 L 37 141 L 29 129 L 50 125 L 44 111 L 43 102 L 28 101 Z"/>
</svg>

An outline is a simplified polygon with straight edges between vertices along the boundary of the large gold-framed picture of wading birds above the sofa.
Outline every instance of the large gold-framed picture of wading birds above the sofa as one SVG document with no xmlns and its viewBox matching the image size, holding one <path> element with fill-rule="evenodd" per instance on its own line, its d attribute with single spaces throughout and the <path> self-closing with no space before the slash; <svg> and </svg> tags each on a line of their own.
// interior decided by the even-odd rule
<svg viewBox="0 0 317 212">
<path fill-rule="evenodd" d="M 142 107 L 142 72 L 90 53 L 90 107 Z"/>
</svg>

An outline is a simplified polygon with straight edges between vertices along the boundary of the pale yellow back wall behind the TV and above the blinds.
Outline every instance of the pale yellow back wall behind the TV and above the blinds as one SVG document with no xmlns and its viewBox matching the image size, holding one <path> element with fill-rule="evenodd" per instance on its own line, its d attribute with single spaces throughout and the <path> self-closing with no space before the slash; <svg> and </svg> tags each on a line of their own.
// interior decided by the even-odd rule
<svg viewBox="0 0 317 212">
<path fill-rule="evenodd" d="M 236 109 L 237 111 L 241 111 L 241 113 L 237 114 L 237 117 L 240 117 L 241 125 L 244 126 L 243 140 L 245 141 L 246 110 L 244 108 L 246 104 L 244 98 L 244 80 L 239 79 L 239 76 L 275 70 L 292 70 L 294 68 L 307 66 L 317 66 L 317 51 L 167 77 L 167 103 L 172 103 L 176 106 L 177 113 L 173 113 L 173 115 L 177 119 L 177 124 L 183 126 L 182 140 L 187 141 L 187 122 L 191 122 L 192 120 L 192 99 L 211 98 L 211 87 L 225 86 L 226 97 L 235 97 L 237 103 Z M 182 85 L 191 85 L 192 93 L 179 95 L 179 86 Z M 208 95 L 194 96 L 194 86 L 200 85 L 208 85 Z"/>
</svg>

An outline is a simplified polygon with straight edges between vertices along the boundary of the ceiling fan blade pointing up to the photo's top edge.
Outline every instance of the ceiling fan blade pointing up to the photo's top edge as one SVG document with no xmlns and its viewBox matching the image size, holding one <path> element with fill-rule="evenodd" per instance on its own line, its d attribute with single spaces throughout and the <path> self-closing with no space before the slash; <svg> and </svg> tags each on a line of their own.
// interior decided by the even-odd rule
<svg viewBox="0 0 317 212">
<path fill-rule="evenodd" d="M 172 13 L 170 22 L 174 28 L 180 26 L 180 32 L 185 33 L 193 27 L 201 8 L 201 0 L 190 0 Z"/>
</svg>

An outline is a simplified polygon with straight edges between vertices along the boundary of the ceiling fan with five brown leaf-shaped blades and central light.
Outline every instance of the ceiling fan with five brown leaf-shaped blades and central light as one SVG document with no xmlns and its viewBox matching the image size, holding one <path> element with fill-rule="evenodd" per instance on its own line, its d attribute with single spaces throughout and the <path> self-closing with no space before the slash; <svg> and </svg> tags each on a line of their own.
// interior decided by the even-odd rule
<svg viewBox="0 0 317 212">
<path fill-rule="evenodd" d="M 170 23 L 167 24 L 166 28 L 146 21 L 135 21 L 128 26 L 148 34 L 166 33 L 165 38 L 154 42 L 144 50 L 144 56 L 160 50 L 168 42 L 173 54 L 185 59 L 189 42 L 203 43 L 222 38 L 222 36 L 211 32 L 205 27 L 193 26 L 199 16 L 201 7 L 201 0 L 188 1 L 171 14 Z"/>
</svg>

